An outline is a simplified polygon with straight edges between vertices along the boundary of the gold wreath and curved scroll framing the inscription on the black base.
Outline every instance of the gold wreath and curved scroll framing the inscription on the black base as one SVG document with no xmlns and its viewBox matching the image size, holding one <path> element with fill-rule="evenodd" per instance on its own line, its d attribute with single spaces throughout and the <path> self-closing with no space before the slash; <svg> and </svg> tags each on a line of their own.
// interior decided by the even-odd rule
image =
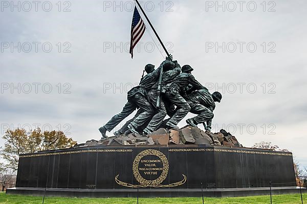
<svg viewBox="0 0 307 204">
<path fill-rule="evenodd" d="M 140 174 L 140 171 L 139 171 L 139 163 L 140 163 L 141 159 L 144 156 L 147 156 L 147 155 L 157 156 L 157 157 L 160 158 L 160 160 L 163 163 L 162 173 L 155 180 L 147 180 L 147 179 L 143 178 L 142 175 Z M 156 188 L 158 188 L 158 187 L 162 187 L 162 188 L 165 188 L 165 187 L 176 187 L 176 186 L 183 185 L 186 182 L 187 177 L 184 174 L 182 174 L 183 175 L 183 180 L 181 180 L 180 182 L 169 184 L 169 185 L 161 185 L 161 183 L 167 177 L 168 169 L 169 169 L 168 160 L 167 160 L 166 156 L 161 151 L 155 150 L 155 149 L 146 149 L 144 151 L 141 151 L 135 157 L 135 160 L 133 162 L 133 174 L 134 174 L 136 180 L 141 185 L 132 185 L 132 184 L 128 184 L 128 183 L 125 183 L 125 182 L 121 182 L 118 179 L 119 175 L 115 176 L 115 181 L 116 181 L 117 184 L 119 184 L 121 186 L 130 187 L 130 188 L 138 188 L 138 187 L 143 187 L 143 188 L 145 188 L 145 187 L 156 187 Z"/>
</svg>

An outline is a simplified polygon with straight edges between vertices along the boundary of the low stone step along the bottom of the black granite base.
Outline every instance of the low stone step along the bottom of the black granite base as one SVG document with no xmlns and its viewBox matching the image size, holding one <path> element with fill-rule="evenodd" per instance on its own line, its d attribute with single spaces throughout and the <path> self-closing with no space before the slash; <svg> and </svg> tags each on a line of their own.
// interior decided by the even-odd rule
<svg viewBox="0 0 307 204">
<path fill-rule="evenodd" d="M 45 191 L 46 190 L 46 191 Z M 300 193 L 296 187 L 273 187 L 272 195 Z M 302 189 L 302 193 L 307 193 Z M 54 189 L 54 188 L 11 188 L 7 194 L 57 196 L 57 197 L 243 197 L 270 195 L 270 188 L 232 189 Z"/>
</svg>

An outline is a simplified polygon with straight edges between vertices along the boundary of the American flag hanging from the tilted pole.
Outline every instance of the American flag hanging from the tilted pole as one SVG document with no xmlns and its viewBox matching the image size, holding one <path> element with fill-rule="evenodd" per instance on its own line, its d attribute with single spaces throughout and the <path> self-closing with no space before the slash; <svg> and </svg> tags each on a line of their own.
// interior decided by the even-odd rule
<svg viewBox="0 0 307 204">
<path fill-rule="evenodd" d="M 130 39 L 130 54 L 131 58 L 133 58 L 133 49 L 141 39 L 145 32 L 145 24 L 140 16 L 140 13 L 135 7 L 133 18 L 132 18 L 132 25 L 131 25 L 131 39 Z"/>
</svg>

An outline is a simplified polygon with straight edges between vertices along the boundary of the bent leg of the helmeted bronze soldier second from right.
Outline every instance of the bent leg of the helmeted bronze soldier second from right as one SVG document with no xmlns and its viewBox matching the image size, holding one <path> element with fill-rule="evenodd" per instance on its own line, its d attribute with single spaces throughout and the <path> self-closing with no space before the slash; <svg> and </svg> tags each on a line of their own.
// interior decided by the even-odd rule
<svg viewBox="0 0 307 204">
<path fill-rule="evenodd" d="M 175 127 L 188 114 L 191 107 L 178 92 L 167 92 L 166 97 L 177 106 L 176 113 L 169 119 L 166 125 Z"/>
</svg>

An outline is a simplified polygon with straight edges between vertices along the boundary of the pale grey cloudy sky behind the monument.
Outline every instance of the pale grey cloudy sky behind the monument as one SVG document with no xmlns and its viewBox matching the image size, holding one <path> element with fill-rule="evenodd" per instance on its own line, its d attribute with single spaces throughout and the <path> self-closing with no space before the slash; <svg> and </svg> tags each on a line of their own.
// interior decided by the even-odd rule
<svg viewBox="0 0 307 204">
<path fill-rule="evenodd" d="M 57 2 L 1 2 L 1 134 L 39 126 L 78 143 L 99 140 L 144 65 L 158 66 L 165 52 L 147 25 L 131 59 L 133 1 Z M 224 128 L 246 147 L 272 142 L 307 166 L 305 0 L 141 5 L 174 58 L 223 94 L 213 131 Z"/>
</svg>

